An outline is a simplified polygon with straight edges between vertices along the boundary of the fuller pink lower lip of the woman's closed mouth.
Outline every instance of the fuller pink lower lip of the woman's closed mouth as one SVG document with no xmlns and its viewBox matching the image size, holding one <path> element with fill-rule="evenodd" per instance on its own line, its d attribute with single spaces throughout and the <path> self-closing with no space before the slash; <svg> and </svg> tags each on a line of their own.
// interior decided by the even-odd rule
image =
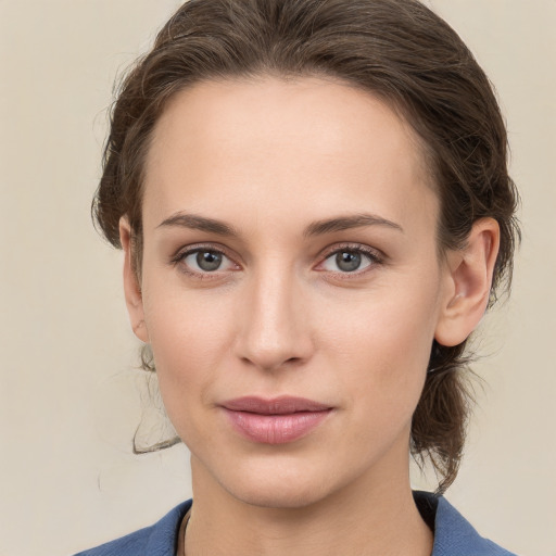
<svg viewBox="0 0 556 556">
<path fill-rule="evenodd" d="M 231 426 L 245 439 L 261 444 L 294 442 L 316 429 L 331 409 L 299 412 L 286 415 L 262 415 L 224 409 Z"/>
</svg>

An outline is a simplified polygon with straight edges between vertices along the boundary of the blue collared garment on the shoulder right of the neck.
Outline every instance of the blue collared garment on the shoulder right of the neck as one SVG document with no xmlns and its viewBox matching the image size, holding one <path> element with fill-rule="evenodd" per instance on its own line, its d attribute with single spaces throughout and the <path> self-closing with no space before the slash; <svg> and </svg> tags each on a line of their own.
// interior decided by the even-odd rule
<svg viewBox="0 0 556 556">
<path fill-rule="evenodd" d="M 432 556 L 516 556 L 482 538 L 443 496 L 426 492 L 414 496 L 424 519 L 433 522 Z"/>
</svg>

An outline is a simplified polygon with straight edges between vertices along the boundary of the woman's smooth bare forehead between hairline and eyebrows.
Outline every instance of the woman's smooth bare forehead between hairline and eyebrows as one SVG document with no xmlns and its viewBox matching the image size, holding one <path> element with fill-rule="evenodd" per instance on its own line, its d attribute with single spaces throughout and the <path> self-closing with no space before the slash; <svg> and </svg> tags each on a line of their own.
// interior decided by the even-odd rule
<svg viewBox="0 0 556 556">
<path fill-rule="evenodd" d="M 212 80 L 177 93 L 159 119 L 143 202 L 159 219 L 227 207 L 270 217 L 288 203 L 307 219 L 362 204 L 400 219 L 435 201 L 428 176 L 410 126 L 366 91 L 309 77 Z"/>
</svg>

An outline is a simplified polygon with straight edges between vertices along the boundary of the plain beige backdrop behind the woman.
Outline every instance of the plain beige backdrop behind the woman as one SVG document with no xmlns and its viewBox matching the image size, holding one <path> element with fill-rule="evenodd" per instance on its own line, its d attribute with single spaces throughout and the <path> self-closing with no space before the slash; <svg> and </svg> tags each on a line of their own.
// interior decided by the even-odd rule
<svg viewBox="0 0 556 556">
<path fill-rule="evenodd" d="M 190 492 L 182 446 L 131 454 L 137 343 L 119 253 L 89 219 L 114 75 L 178 3 L 0 1 L 0 556 L 71 554 Z M 448 498 L 508 548 L 555 556 L 556 2 L 430 3 L 497 86 L 523 197 L 514 295 L 485 323 L 484 391 Z"/>
</svg>

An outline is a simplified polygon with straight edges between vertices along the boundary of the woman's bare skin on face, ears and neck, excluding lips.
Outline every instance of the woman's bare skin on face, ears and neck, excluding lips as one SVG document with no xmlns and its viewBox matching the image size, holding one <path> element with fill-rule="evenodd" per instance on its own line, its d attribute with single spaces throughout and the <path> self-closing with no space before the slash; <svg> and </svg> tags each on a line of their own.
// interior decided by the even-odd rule
<svg viewBox="0 0 556 556">
<path fill-rule="evenodd" d="M 496 223 L 439 258 L 439 201 L 409 126 L 318 78 L 179 92 L 146 168 L 140 279 L 124 217 L 124 281 L 191 451 L 188 556 L 430 554 L 408 479 L 410 419 L 433 338 L 457 344 L 484 313 Z M 375 222 L 353 222 L 363 214 Z M 338 218 L 351 226 L 317 225 Z M 222 266 L 203 273 L 194 249 L 223 252 Z M 342 250 L 359 253 L 358 269 L 339 267 Z M 285 394 L 332 410 L 268 445 L 220 407 Z"/>
</svg>

